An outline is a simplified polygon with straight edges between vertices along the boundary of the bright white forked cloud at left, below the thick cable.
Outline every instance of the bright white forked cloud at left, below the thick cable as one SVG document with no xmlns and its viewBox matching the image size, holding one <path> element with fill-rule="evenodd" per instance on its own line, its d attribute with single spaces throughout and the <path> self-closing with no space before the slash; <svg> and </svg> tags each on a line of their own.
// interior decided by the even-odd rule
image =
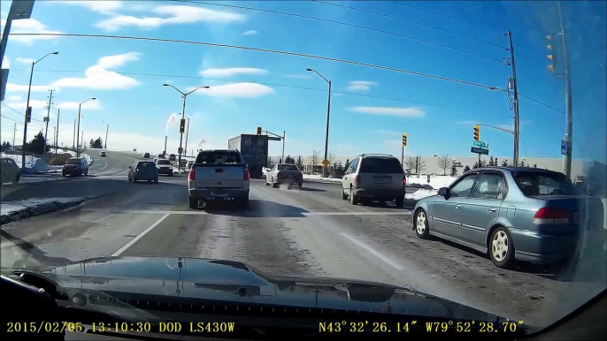
<svg viewBox="0 0 607 341">
<path fill-rule="evenodd" d="M 99 90 L 127 89 L 139 85 L 139 81 L 116 72 L 107 71 L 127 62 L 139 60 L 134 52 L 99 58 L 96 65 L 89 67 L 84 78 L 68 77 L 52 82 L 56 87 L 81 87 Z"/>
</svg>

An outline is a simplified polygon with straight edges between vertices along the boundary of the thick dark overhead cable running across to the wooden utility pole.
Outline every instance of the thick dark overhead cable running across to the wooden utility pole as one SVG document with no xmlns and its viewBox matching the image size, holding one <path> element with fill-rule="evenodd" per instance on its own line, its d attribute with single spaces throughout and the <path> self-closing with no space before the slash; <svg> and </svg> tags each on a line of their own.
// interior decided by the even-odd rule
<svg viewBox="0 0 607 341">
<path fill-rule="evenodd" d="M 12 34 L 12 35 L 65 36 L 65 37 L 84 37 L 84 38 L 113 38 L 113 39 L 126 39 L 126 40 L 147 41 L 147 42 L 179 42 L 179 43 L 185 43 L 185 44 L 214 46 L 214 47 L 228 48 L 228 49 L 244 49 L 244 50 L 250 50 L 250 51 L 275 53 L 275 54 L 286 55 L 286 56 L 306 57 L 306 58 L 311 58 L 311 59 L 327 60 L 327 61 L 337 62 L 337 63 L 343 63 L 343 64 L 352 64 L 352 65 L 358 65 L 358 66 L 366 66 L 366 67 L 371 67 L 371 68 L 374 68 L 374 69 L 388 70 L 388 71 L 393 71 L 393 72 L 413 74 L 413 75 L 416 75 L 416 76 L 427 77 L 427 78 L 431 78 L 431 79 L 434 79 L 434 80 L 447 80 L 447 81 L 451 81 L 451 82 L 454 82 L 454 83 L 469 85 L 469 86 L 472 86 L 472 87 L 484 87 L 484 88 L 489 89 L 489 90 L 496 89 L 496 87 L 492 87 L 492 86 L 488 86 L 488 85 L 483 85 L 483 84 L 479 84 L 479 83 L 474 83 L 474 82 L 470 82 L 470 81 L 466 81 L 466 80 L 456 80 L 456 79 L 452 79 L 452 78 L 448 78 L 448 77 L 442 77 L 442 76 L 436 76 L 436 75 L 432 75 L 432 74 L 428 74 L 428 73 L 413 72 L 413 71 L 409 71 L 409 70 L 396 69 L 394 67 L 389 67 L 389 66 L 381 66 L 381 65 L 376 65 L 376 64 L 361 63 L 361 62 L 355 62 L 355 61 L 351 61 L 351 60 L 340 59 L 340 58 L 333 58 L 333 57 L 323 57 L 323 56 L 308 55 L 308 54 L 297 53 L 297 52 L 280 51 L 280 50 L 277 50 L 277 49 L 260 49 L 260 48 L 251 48 L 251 47 L 239 46 L 239 45 L 219 44 L 219 43 L 216 43 L 216 42 L 193 42 L 193 41 L 183 41 L 183 40 L 178 40 L 178 39 L 134 37 L 134 36 L 127 36 L 127 35 L 110 35 L 110 34 L 51 34 L 51 33 L 44 33 L 44 34 L 42 34 L 42 33 L 39 33 L 39 34 Z"/>
</svg>

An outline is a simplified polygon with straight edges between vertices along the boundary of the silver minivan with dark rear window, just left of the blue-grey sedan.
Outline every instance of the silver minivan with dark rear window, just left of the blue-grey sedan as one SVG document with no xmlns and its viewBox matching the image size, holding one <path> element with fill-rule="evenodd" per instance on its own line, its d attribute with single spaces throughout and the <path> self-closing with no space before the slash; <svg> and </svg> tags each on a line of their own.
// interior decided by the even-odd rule
<svg viewBox="0 0 607 341">
<path fill-rule="evenodd" d="M 358 155 L 342 178 L 342 199 L 350 196 L 352 205 L 395 200 L 396 206 L 402 207 L 406 182 L 403 166 L 395 156 Z"/>
</svg>

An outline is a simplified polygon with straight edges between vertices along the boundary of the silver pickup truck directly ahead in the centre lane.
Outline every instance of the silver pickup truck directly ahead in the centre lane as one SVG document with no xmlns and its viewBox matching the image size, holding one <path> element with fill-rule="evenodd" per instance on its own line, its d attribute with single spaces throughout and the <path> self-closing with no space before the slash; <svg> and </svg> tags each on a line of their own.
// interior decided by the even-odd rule
<svg viewBox="0 0 607 341">
<path fill-rule="evenodd" d="M 238 201 L 249 206 L 250 175 L 242 155 L 234 149 L 201 150 L 188 174 L 189 208 L 206 201 Z"/>
</svg>

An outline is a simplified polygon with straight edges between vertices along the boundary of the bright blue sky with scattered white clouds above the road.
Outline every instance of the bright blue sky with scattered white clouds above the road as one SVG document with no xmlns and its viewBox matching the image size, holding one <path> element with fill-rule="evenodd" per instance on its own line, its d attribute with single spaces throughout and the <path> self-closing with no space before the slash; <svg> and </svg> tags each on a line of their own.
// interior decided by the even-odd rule
<svg viewBox="0 0 607 341">
<path fill-rule="evenodd" d="M 508 57 L 509 52 L 504 49 L 508 41 L 503 33 L 510 29 L 519 66 L 519 92 L 565 112 L 564 80 L 547 71 L 545 35 L 558 30 L 556 3 L 406 3 L 477 25 L 389 2 L 333 3 L 440 27 L 502 48 L 403 20 L 310 1 L 214 4 L 243 5 L 373 27 L 497 60 Z M 10 2 L 2 1 L 1 6 L 4 20 Z M 605 3 L 564 3 L 563 12 L 572 55 L 574 157 L 604 161 Z M 503 88 L 511 73 L 509 66 L 486 57 L 393 34 L 204 4 L 37 1 L 32 19 L 13 22 L 12 33 L 19 32 L 116 34 L 277 49 Z M 306 57 L 107 38 L 11 36 L 5 55 L 8 63 L 4 61 L 4 66 L 10 64 L 11 69 L 5 104 L 19 112 L 25 110 L 30 59 L 52 51 L 59 55 L 47 57 L 35 66 L 36 91 L 31 101 L 34 118 L 42 120 L 43 102 L 48 101 L 46 90 L 58 89 L 51 106 L 49 135 L 52 126 L 57 125 L 57 110 L 61 109 L 59 142 L 66 145 L 72 145 L 78 103 L 96 97 L 97 101 L 87 102 L 82 109 L 81 131 L 85 140 L 98 136 L 104 139 L 104 121 L 110 124 L 110 148 L 156 152 L 162 150 L 167 133 L 168 150 L 176 152 L 179 128 L 167 122 L 173 113 L 181 115 L 182 100 L 172 88 L 162 87 L 163 83 L 170 83 L 182 91 L 202 85 L 211 87 L 188 96 L 188 150 L 198 146 L 227 148 L 228 138 L 255 133 L 256 127 L 262 126 L 274 133 L 287 132 L 286 154 L 308 156 L 312 149 L 324 148 L 327 83 L 306 72 L 306 68 L 317 70 L 333 83 L 329 152 L 334 155 L 399 155 L 401 133 L 409 135 L 405 155 L 470 155 L 475 123 L 512 125 L 513 113 L 501 91 Z M 522 97 L 519 108 L 520 155 L 559 157 L 565 115 Z M 4 105 L 1 110 L 1 140 L 12 140 L 14 122 L 5 117 L 21 122 L 22 116 Z M 28 129 L 28 140 L 42 122 L 34 121 L 31 126 L 34 128 Z M 17 140 L 22 134 L 22 125 L 17 124 Z M 483 127 L 480 135 L 481 140 L 488 141 L 492 155 L 511 156 L 510 134 Z M 280 155 L 280 148 L 280 142 L 274 142 L 271 155 Z"/>
</svg>

